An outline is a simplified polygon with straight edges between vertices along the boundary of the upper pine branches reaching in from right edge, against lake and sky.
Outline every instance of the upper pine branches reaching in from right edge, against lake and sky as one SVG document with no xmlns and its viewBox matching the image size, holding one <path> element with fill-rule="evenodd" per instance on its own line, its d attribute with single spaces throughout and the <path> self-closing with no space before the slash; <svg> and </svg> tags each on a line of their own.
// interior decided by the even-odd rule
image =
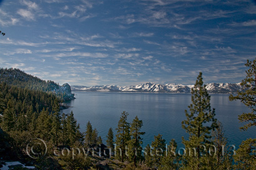
<svg viewBox="0 0 256 170">
<path fill-rule="evenodd" d="M 240 122 L 245 122 L 241 129 L 247 130 L 251 126 L 256 126 L 256 58 L 245 64 L 248 67 L 246 78 L 242 80 L 242 92 L 238 92 L 237 96 L 230 95 L 230 101 L 240 100 L 245 106 L 251 109 L 250 113 L 243 113 L 238 116 Z"/>
</svg>

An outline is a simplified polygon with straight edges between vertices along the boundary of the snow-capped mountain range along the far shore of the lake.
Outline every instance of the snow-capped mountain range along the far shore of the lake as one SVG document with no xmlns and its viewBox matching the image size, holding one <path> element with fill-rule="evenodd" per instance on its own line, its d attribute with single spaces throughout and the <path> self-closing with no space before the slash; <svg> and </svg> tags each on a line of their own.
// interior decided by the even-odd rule
<svg viewBox="0 0 256 170">
<path fill-rule="evenodd" d="M 109 91 L 109 92 L 155 92 L 155 93 L 190 93 L 193 85 L 143 83 L 136 86 L 71 86 L 72 91 Z M 209 83 L 209 93 L 236 93 L 242 91 L 240 83 Z"/>
</svg>

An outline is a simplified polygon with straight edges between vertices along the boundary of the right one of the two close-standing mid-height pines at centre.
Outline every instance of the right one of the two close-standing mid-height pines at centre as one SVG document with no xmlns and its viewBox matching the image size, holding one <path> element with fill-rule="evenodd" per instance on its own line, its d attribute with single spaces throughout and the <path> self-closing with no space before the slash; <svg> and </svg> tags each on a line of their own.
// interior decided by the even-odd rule
<svg viewBox="0 0 256 170">
<path fill-rule="evenodd" d="M 129 143 L 129 158 L 130 161 L 133 161 L 134 166 L 136 167 L 136 163 L 142 159 L 142 148 L 141 145 L 143 143 L 141 135 L 145 134 L 141 132 L 141 127 L 143 126 L 143 121 L 138 119 L 138 116 L 133 119 L 130 128 L 131 140 Z"/>
</svg>

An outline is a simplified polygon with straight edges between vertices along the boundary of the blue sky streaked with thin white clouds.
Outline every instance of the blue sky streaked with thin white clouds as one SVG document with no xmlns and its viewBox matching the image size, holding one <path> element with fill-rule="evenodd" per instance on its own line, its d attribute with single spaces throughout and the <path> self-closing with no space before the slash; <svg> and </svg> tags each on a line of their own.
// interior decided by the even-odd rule
<svg viewBox="0 0 256 170">
<path fill-rule="evenodd" d="M 238 83 L 256 57 L 251 0 L 1 1 L 0 67 L 59 84 Z"/>
</svg>

